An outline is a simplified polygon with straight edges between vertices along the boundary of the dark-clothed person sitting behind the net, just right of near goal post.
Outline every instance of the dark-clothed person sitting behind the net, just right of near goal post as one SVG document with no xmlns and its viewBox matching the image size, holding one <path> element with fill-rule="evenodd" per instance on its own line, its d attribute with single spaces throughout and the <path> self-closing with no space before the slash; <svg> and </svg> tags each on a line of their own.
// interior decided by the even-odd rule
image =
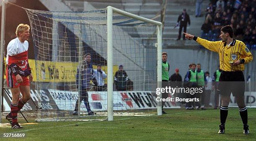
<svg viewBox="0 0 256 141">
<path fill-rule="evenodd" d="M 128 75 L 123 70 L 123 65 L 119 65 L 119 70 L 115 72 L 114 83 L 118 91 L 127 90 Z"/>
</svg>

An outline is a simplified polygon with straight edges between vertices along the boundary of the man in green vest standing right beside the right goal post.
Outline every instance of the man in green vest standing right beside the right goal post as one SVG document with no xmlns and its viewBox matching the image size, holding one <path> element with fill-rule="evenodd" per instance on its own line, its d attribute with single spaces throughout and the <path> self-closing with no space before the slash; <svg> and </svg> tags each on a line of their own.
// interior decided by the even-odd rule
<svg viewBox="0 0 256 141">
<path fill-rule="evenodd" d="M 162 88 L 165 88 L 166 86 L 169 87 L 169 70 L 170 65 L 167 62 L 167 53 L 162 53 Z M 168 93 L 162 93 L 162 98 L 167 98 Z M 163 111 L 165 101 L 162 101 L 162 114 L 166 114 L 165 111 Z"/>
</svg>

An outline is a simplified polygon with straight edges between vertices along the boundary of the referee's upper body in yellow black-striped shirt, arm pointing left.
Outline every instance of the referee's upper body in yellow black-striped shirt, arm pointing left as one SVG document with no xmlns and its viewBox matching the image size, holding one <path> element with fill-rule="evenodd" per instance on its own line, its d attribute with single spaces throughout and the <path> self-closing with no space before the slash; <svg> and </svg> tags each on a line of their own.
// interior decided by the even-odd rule
<svg viewBox="0 0 256 141">
<path fill-rule="evenodd" d="M 195 40 L 205 48 L 217 52 L 220 58 L 220 69 L 223 71 L 243 71 L 244 64 L 253 60 L 253 56 L 246 45 L 233 39 L 233 35 L 221 30 L 220 41 L 208 41 L 200 37 L 184 33 L 189 40 Z"/>
</svg>

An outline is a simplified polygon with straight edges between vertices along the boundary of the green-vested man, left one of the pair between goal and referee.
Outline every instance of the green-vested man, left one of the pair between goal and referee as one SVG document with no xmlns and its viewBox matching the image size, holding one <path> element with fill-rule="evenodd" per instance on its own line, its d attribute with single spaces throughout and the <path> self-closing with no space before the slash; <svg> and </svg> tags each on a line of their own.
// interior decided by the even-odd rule
<svg viewBox="0 0 256 141">
<path fill-rule="evenodd" d="M 189 88 L 197 88 L 197 72 L 195 71 L 196 65 L 194 63 L 191 64 L 191 69 L 187 71 L 187 75 L 185 76 L 185 83 Z M 190 93 L 186 93 L 186 98 L 195 98 L 195 95 L 191 95 Z M 186 103 L 186 110 L 194 110 L 192 107 L 192 102 Z"/>
</svg>

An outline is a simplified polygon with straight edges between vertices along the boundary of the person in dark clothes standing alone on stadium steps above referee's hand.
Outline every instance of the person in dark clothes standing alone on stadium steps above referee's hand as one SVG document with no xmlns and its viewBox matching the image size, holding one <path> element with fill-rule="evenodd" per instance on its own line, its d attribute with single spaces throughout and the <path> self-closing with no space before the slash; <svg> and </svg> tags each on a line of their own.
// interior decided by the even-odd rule
<svg viewBox="0 0 256 141">
<path fill-rule="evenodd" d="M 186 9 L 183 9 L 182 14 L 179 15 L 177 23 L 179 23 L 179 36 L 178 36 L 177 40 L 180 40 L 182 28 L 183 28 L 183 31 L 186 32 L 187 31 L 187 23 L 190 25 L 189 15 L 187 14 Z M 185 40 L 185 35 L 184 34 L 183 34 L 183 40 Z"/>
</svg>

